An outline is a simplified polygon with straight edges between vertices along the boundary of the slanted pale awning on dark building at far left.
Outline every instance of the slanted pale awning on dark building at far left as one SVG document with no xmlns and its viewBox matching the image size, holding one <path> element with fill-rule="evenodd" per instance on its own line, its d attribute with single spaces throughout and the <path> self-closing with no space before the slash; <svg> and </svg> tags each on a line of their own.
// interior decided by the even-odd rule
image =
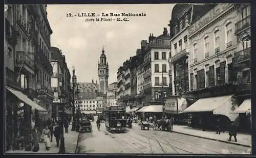
<svg viewBox="0 0 256 158">
<path fill-rule="evenodd" d="M 37 103 L 35 103 L 34 101 L 32 101 L 27 95 L 23 94 L 20 91 L 11 89 L 11 88 L 7 88 L 12 94 L 14 94 L 16 97 L 18 97 L 20 100 L 24 101 L 26 104 L 28 104 L 30 107 L 38 110 L 38 111 L 47 111 L 44 108 L 42 108 L 41 106 L 39 106 Z"/>
</svg>

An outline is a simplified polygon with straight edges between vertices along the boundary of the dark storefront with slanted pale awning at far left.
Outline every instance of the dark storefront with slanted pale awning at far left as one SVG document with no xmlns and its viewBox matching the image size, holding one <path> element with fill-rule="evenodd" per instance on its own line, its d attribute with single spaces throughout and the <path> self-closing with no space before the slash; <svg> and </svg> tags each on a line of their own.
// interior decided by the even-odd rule
<svg viewBox="0 0 256 158">
<path fill-rule="evenodd" d="M 6 87 L 7 150 L 27 147 L 31 140 L 34 111 L 46 111 L 22 91 Z"/>
</svg>

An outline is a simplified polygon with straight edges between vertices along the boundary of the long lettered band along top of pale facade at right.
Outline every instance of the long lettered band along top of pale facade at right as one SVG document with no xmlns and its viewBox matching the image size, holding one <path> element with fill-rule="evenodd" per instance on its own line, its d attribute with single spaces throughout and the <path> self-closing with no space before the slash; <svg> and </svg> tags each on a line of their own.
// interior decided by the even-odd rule
<svg viewBox="0 0 256 158">
<path fill-rule="evenodd" d="M 188 34 L 191 35 L 196 31 L 202 29 L 206 24 L 208 24 L 212 19 L 220 15 L 226 8 L 230 7 L 232 4 L 219 4 L 215 8 L 211 9 L 206 13 L 202 18 L 197 20 L 191 27 L 188 29 Z"/>
</svg>

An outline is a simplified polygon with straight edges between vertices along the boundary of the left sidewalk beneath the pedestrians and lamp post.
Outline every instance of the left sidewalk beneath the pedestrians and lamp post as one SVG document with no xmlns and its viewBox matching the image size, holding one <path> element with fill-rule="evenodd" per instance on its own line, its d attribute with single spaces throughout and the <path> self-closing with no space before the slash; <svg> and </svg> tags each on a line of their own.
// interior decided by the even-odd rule
<svg viewBox="0 0 256 158">
<path fill-rule="evenodd" d="M 66 153 L 74 153 L 76 150 L 76 145 L 77 145 L 77 139 L 79 133 L 76 131 L 71 131 L 72 124 L 69 125 L 69 133 L 64 133 L 65 137 L 65 148 L 66 148 Z M 65 129 L 64 129 L 65 130 Z M 64 131 L 65 132 L 65 131 Z M 56 140 L 55 137 L 53 136 L 53 141 L 51 142 L 51 149 L 46 150 L 45 143 L 39 143 L 39 151 L 33 152 L 33 151 L 25 151 L 25 150 L 10 150 L 7 151 L 6 153 L 35 153 L 35 154 L 40 154 L 40 153 L 58 153 L 59 148 L 56 146 Z"/>
</svg>

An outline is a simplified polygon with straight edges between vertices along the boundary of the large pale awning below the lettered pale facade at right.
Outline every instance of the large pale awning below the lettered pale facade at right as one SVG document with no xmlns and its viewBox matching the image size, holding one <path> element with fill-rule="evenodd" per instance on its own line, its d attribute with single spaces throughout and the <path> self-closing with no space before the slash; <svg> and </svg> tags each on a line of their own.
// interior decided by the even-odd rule
<svg viewBox="0 0 256 158">
<path fill-rule="evenodd" d="M 238 117 L 238 114 L 231 114 L 233 111 L 232 96 L 233 95 L 225 95 L 219 97 L 202 98 L 197 100 L 183 112 L 213 112 L 215 115 L 225 115 L 231 121 L 234 121 Z"/>
</svg>

